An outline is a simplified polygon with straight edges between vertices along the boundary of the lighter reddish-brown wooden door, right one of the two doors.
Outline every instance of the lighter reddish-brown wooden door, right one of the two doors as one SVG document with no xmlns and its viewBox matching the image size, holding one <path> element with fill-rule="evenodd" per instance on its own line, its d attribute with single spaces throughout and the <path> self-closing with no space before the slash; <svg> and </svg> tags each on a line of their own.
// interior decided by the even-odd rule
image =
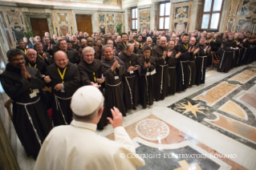
<svg viewBox="0 0 256 170">
<path fill-rule="evenodd" d="M 91 34 L 92 34 L 91 15 L 76 14 L 75 18 L 76 18 L 77 30 L 82 32 L 87 32 L 91 37 Z"/>
</svg>

